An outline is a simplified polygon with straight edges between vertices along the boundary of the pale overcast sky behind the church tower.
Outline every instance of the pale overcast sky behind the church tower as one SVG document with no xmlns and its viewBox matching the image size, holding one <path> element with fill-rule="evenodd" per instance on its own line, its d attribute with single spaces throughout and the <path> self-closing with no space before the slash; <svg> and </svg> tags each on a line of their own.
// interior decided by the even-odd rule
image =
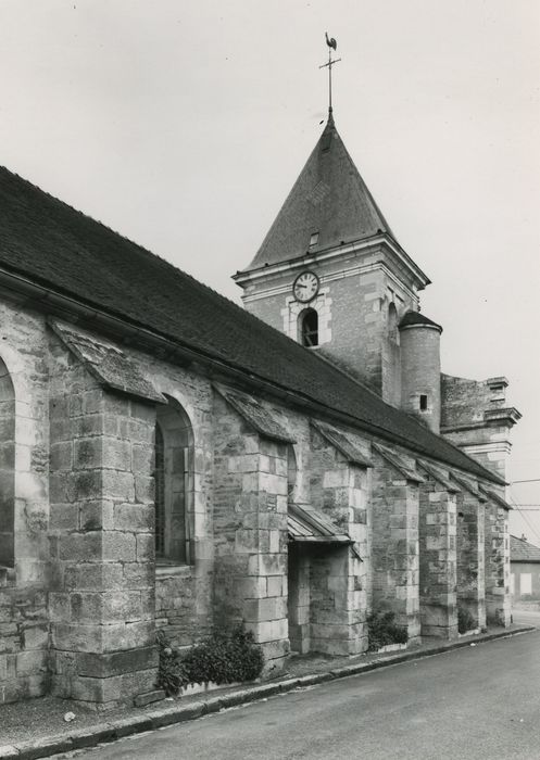
<svg viewBox="0 0 540 760">
<path fill-rule="evenodd" d="M 0 0 L 0 163 L 239 302 L 327 111 L 540 479 L 537 0 Z M 0 219 L 1 223 L 1 219 Z M 540 545 L 540 480 L 511 530 Z"/>
</svg>

